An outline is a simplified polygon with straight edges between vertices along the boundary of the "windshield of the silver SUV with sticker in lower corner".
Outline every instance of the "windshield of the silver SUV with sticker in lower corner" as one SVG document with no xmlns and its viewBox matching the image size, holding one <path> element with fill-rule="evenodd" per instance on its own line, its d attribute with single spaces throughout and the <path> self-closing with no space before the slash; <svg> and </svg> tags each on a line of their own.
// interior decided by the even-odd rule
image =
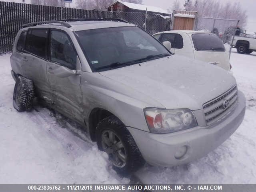
<svg viewBox="0 0 256 192">
<path fill-rule="evenodd" d="M 76 34 L 92 71 L 171 55 L 160 42 L 136 26 L 84 30 Z"/>
</svg>

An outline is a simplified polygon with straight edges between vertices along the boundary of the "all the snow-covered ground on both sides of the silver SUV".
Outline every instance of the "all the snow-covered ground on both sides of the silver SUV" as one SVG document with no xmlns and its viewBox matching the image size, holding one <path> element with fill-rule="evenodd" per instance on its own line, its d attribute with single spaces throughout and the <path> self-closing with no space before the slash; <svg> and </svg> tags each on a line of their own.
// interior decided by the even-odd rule
<svg viewBox="0 0 256 192">
<path fill-rule="evenodd" d="M 126 184 L 106 153 L 74 122 L 36 106 L 16 112 L 10 55 L 0 56 L 0 183 Z M 256 53 L 237 54 L 230 63 L 238 88 L 246 96 L 246 115 L 238 130 L 220 147 L 190 164 L 173 168 L 145 165 L 136 172 L 147 184 L 256 183 Z"/>
</svg>

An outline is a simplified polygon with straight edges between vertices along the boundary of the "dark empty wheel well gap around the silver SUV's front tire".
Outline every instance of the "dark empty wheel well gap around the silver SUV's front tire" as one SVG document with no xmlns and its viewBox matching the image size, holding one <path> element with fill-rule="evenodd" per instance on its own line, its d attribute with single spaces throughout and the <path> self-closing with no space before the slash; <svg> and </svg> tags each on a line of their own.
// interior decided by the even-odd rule
<svg viewBox="0 0 256 192">
<path fill-rule="evenodd" d="M 102 108 L 94 108 L 89 116 L 89 132 L 92 141 L 96 141 L 95 130 L 100 120 L 112 116 L 113 114 L 108 110 Z"/>
</svg>

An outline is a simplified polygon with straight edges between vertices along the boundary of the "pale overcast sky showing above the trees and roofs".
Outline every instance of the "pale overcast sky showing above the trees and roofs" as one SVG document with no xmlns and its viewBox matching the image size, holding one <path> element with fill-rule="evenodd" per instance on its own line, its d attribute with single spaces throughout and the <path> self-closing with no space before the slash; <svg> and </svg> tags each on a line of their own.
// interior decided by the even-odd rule
<svg viewBox="0 0 256 192">
<path fill-rule="evenodd" d="M 22 2 L 22 0 L 0 0 L 0 1 L 11 1 L 11 2 Z M 75 1 L 72 7 L 75 6 Z M 143 0 L 142 3 L 145 5 L 156 6 L 163 9 L 172 7 L 175 0 Z M 179 0 L 182 6 L 185 0 Z M 210 1 L 210 0 L 209 0 Z M 220 0 L 220 2 L 236 2 L 236 0 Z M 256 0 L 237 0 L 241 6 L 247 10 L 247 32 L 256 32 Z M 25 0 L 26 3 L 30 3 L 30 0 Z"/>
</svg>

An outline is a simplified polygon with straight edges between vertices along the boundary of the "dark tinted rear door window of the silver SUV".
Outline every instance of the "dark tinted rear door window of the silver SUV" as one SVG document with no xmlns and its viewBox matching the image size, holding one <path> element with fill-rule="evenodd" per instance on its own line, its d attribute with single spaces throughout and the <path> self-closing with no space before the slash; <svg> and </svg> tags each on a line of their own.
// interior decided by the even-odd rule
<svg viewBox="0 0 256 192">
<path fill-rule="evenodd" d="M 29 30 L 26 38 L 25 50 L 47 59 L 48 29 Z"/>
</svg>

